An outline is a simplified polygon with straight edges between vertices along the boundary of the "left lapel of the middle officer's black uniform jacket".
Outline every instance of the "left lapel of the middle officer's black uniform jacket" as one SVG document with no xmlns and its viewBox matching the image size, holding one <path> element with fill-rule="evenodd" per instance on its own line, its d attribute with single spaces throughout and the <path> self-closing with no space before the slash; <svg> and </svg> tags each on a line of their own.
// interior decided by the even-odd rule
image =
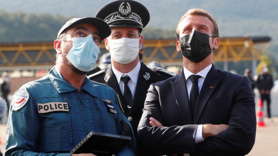
<svg viewBox="0 0 278 156">
<path fill-rule="evenodd" d="M 124 114 L 127 115 L 128 114 L 128 108 L 126 105 L 126 102 L 124 101 L 124 97 L 122 95 L 122 92 L 120 90 L 120 86 L 118 84 L 117 78 L 111 68 L 111 65 L 109 66 L 109 68 L 107 68 L 106 73 L 105 73 L 105 82 L 108 86 L 110 86 L 111 88 L 113 88 L 113 90 L 116 91 L 116 93 L 119 95 L 121 104 L 122 104 L 122 108 L 124 110 Z"/>
</svg>

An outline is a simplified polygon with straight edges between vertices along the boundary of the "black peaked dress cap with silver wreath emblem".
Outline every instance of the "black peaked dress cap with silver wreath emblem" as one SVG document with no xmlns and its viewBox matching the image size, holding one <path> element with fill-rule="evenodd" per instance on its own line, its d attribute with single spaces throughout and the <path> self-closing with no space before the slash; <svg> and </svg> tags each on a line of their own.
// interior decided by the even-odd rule
<svg viewBox="0 0 278 156">
<path fill-rule="evenodd" d="M 139 2 L 117 0 L 104 5 L 95 17 L 103 19 L 110 27 L 135 27 L 140 32 L 150 21 L 150 13 Z"/>
</svg>

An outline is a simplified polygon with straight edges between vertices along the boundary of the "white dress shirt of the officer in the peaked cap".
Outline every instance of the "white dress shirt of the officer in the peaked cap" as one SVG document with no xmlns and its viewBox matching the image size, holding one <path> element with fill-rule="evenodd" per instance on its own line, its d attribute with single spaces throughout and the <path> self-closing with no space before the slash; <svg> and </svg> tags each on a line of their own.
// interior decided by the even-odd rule
<svg viewBox="0 0 278 156">
<path fill-rule="evenodd" d="M 116 70 L 115 67 L 112 65 L 112 70 L 117 78 L 122 95 L 124 95 L 124 82 L 122 82 L 121 77 L 129 76 L 130 80 L 128 81 L 127 86 L 131 91 L 132 99 L 134 98 L 140 68 L 141 68 L 141 64 L 138 61 L 138 64 L 130 72 L 122 73 Z"/>
</svg>

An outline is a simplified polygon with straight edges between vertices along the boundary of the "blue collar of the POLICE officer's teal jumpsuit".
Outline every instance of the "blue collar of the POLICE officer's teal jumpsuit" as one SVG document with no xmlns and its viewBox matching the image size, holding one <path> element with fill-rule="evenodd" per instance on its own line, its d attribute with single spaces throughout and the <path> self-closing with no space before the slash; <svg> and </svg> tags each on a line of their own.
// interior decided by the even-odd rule
<svg viewBox="0 0 278 156">
<path fill-rule="evenodd" d="M 50 81 L 52 82 L 53 86 L 56 88 L 56 90 L 59 93 L 65 93 L 73 90 L 77 90 L 77 88 L 73 87 L 71 84 L 69 84 L 64 76 L 59 71 L 58 67 L 55 65 L 49 72 L 48 77 Z M 97 92 L 95 90 L 95 87 L 93 86 L 91 80 L 87 76 L 85 76 L 82 90 L 87 91 L 93 96 L 97 97 Z"/>
</svg>

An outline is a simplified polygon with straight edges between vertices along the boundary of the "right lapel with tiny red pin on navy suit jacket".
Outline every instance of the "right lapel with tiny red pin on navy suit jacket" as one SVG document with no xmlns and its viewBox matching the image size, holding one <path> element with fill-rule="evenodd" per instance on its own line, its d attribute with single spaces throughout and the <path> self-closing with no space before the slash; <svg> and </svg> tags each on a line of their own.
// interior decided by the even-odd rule
<svg viewBox="0 0 278 156">
<path fill-rule="evenodd" d="M 196 105 L 195 105 L 195 111 L 194 111 L 194 117 L 193 117 L 193 124 L 197 124 L 199 121 L 199 118 L 201 116 L 201 113 L 211 96 L 212 92 L 215 90 L 217 84 L 221 80 L 222 76 L 218 75 L 217 69 L 212 65 L 210 71 L 208 72 L 205 81 L 203 83 L 203 86 L 201 88 L 201 91 L 199 93 Z"/>
</svg>

